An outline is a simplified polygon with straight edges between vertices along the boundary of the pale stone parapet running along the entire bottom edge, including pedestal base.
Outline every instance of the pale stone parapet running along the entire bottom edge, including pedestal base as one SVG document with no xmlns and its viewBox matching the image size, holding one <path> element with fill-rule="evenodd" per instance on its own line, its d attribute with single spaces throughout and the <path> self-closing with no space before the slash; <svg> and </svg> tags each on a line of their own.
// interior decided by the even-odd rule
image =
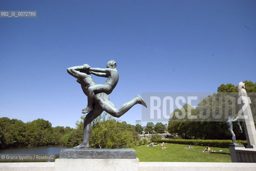
<svg viewBox="0 0 256 171">
<path fill-rule="evenodd" d="M 0 163 L 0 171 L 53 171 L 53 170 L 129 170 L 131 168 L 135 170 L 138 164 L 139 171 L 254 171 L 256 170 L 256 163 L 232 163 L 232 162 L 127 162 L 125 160 L 131 159 L 115 159 L 116 162 L 110 161 L 111 159 L 93 159 L 98 160 L 95 162 L 87 162 L 84 165 L 84 162 L 78 160 L 88 160 L 88 159 L 72 159 L 77 160 L 73 164 L 76 164 L 76 167 L 71 167 L 70 162 L 58 162 L 59 159 L 56 159 L 56 162 L 8 162 Z M 63 159 L 61 159 L 63 160 Z M 64 159 L 67 160 L 67 159 Z M 63 161 L 64 161 L 63 160 Z M 109 160 L 109 161 L 108 161 Z M 135 160 L 135 159 L 132 159 Z M 88 160 L 89 161 L 89 160 Z M 121 164 L 121 163 L 122 164 Z M 137 163 L 137 164 L 136 164 Z M 95 166 L 96 164 L 96 166 Z M 135 165 L 133 165 L 135 164 Z M 56 169 L 55 166 L 59 166 L 59 169 Z M 80 166 L 79 166 L 80 165 Z M 89 169 L 92 166 L 92 169 Z M 80 167 L 80 169 L 78 169 Z M 97 167 L 97 168 L 96 168 Z"/>
</svg>

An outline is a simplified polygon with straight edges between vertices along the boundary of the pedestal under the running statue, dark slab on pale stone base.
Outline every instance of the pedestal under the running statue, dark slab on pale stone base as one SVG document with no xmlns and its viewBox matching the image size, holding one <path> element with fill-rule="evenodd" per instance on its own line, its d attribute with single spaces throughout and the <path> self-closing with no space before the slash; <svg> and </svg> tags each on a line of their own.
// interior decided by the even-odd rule
<svg viewBox="0 0 256 171">
<path fill-rule="evenodd" d="M 59 152 L 54 170 L 138 171 L 139 159 L 133 149 L 66 149 Z"/>
</svg>

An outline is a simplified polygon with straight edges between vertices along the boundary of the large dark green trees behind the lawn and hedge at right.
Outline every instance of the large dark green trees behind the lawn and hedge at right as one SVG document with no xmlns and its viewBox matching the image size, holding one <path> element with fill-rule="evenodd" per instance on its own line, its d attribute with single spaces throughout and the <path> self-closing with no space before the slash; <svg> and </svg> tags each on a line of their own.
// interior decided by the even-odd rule
<svg viewBox="0 0 256 171">
<path fill-rule="evenodd" d="M 247 93 L 251 92 L 249 97 L 251 98 L 252 104 L 251 110 L 253 114 L 256 114 L 256 83 L 253 83 L 252 81 L 244 81 L 245 83 L 245 88 Z M 229 94 L 232 92 L 233 94 Z M 207 119 L 201 119 L 201 120 L 195 120 L 193 122 L 187 120 L 187 113 L 188 111 L 191 111 L 191 115 L 197 115 L 199 116 L 199 107 L 204 106 L 207 102 L 209 102 L 208 106 L 211 109 L 210 110 L 210 116 L 212 116 L 213 111 L 215 111 L 215 115 L 218 115 L 220 113 L 220 109 L 224 113 L 224 110 L 227 110 L 229 113 L 232 112 L 232 103 L 228 102 L 228 104 L 223 103 L 216 103 L 215 108 L 213 108 L 213 100 L 216 100 L 217 102 L 219 101 L 220 98 L 225 97 L 231 97 L 231 96 L 237 96 L 237 86 L 234 84 L 221 84 L 220 87 L 217 89 L 217 93 L 213 95 L 209 95 L 207 98 L 202 100 L 198 104 L 196 108 L 191 107 L 188 104 L 185 104 L 183 106 L 183 109 L 185 110 L 185 117 L 183 120 L 175 120 L 175 119 L 170 119 L 169 120 L 169 125 L 168 125 L 168 131 L 169 133 L 172 134 L 177 134 L 180 138 L 184 139 L 230 139 L 231 135 L 227 131 L 227 126 L 226 122 L 223 120 L 214 122 L 214 121 L 209 121 Z M 225 109 L 224 105 L 227 105 L 227 108 Z M 237 105 L 236 102 L 236 112 L 238 113 L 239 111 L 239 106 Z M 190 109 L 190 110 L 188 110 Z M 174 111 L 178 112 L 179 114 L 182 114 L 182 111 L 180 109 L 176 109 Z M 172 114 L 174 114 L 172 113 Z M 237 114 L 236 113 L 236 114 Z M 206 111 L 202 111 L 202 114 L 206 114 Z M 199 118 L 199 117 L 198 117 Z M 255 116 L 254 116 L 254 121 L 255 121 Z M 236 134 L 237 139 L 245 140 L 245 134 L 244 134 L 244 127 L 243 123 L 240 122 L 240 125 L 242 126 L 243 133 L 239 133 L 239 126 L 235 123 L 233 123 L 234 127 L 234 132 Z"/>
</svg>

